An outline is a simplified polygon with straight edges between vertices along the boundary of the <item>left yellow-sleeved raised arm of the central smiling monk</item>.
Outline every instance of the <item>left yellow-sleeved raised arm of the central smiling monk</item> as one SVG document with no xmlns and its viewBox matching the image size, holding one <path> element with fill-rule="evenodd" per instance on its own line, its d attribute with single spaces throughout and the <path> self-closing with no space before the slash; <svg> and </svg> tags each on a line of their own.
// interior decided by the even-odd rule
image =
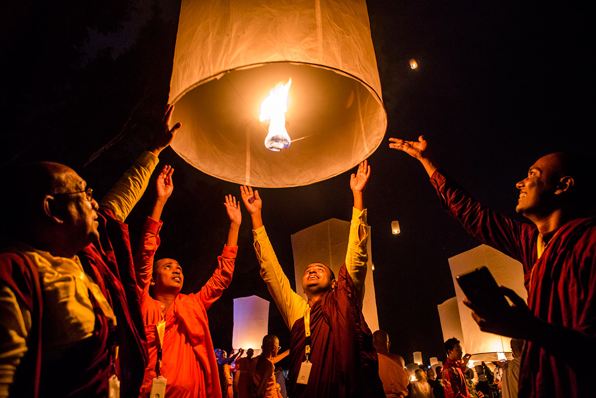
<svg viewBox="0 0 596 398">
<path fill-rule="evenodd" d="M 308 304 L 294 292 L 290 285 L 290 280 L 285 276 L 281 269 L 280 262 L 271 246 L 269 237 L 265 232 L 263 220 L 261 218 L 261 208 L 263 202 L 259 192 L 251 187 L 241 186 L 240 193 L 244 206 L 250 213 L 253 220 L 254 252 L 260 264 L 260 275 L 267 284 L 269 294 L 277 304 L 288 328 L 292 328 L 297 319 L 304 316 Z"/>
</svg>

